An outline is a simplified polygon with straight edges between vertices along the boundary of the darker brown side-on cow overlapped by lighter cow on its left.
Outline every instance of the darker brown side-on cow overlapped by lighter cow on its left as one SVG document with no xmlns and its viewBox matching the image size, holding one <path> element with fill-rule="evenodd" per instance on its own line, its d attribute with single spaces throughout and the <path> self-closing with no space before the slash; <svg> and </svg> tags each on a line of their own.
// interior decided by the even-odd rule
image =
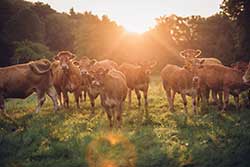
<svg viewBox="0 0 250 167">
<path fill-rule="evenodd" d="M 229 93 L 234 96 L 236 109 L 239 109 L 239 94 L 249 89 L 249 85 L 244 83 L 242 79 L 244 72 L 222 65 L 207 64 L 197 69 L 196 73 L 200 78 L 201 89 L 208 87 L 214 92 L 213 99 L 216 104 L 218 104 L 218 102 L 215 93 L 224 93 L 224 102 L 220 101 L 220 103 L 223 103 L 222 111 L 226 111 L 227 109 Z"/>
</svg>

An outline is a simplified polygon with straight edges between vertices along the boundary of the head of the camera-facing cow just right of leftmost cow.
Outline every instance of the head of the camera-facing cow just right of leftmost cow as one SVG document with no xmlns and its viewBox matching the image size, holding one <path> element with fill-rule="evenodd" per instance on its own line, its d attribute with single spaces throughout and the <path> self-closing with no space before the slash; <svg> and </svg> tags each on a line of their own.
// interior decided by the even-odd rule
<svg viewBox="0 0 250 167">
<path fill-rule="evenodd" d="M 54 57 L 54 60 L 59 61 L 62 70 L 66 71 L 69 70 L 69 64 L 71 63 L 71 60 L 73 60 L 74 58 L 75 55 L 72 54 L 71 52 L 61 51 Z"/>
</svg>

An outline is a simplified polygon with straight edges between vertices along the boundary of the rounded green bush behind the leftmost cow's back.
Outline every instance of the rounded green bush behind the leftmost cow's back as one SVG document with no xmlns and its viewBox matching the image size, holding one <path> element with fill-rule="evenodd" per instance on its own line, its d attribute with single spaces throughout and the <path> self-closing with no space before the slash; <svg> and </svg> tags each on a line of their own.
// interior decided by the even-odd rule
<svg viewBox="0 0 250 167">
<path fill-rule="evenodd" d="M 51 59 L 52 56 L 53 53 L 50 52 L 49 48 L 41 43 L 31 41 L 15 42 L 15 51 L 11 63 L 20 64 L 41 58 Z"/>
</svg>

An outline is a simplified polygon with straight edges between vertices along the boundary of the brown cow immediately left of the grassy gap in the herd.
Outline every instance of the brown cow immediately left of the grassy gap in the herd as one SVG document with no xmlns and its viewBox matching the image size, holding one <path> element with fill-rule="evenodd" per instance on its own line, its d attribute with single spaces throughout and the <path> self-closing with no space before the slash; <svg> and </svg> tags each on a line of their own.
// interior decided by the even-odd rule
<svg viewBox="0 0 250 167">
<path fill-rule="evenodd" d="M 144 95 L 144 106 L 148 106 L 148 88 L 149 88 L 149 75 L 156 65 L 156 62 L 147 62 L 139 65 L 123 63 L 118 67 L 118 70 L 121 71 L 127 80 L 127 85 L 129 88 L 128 93 L 128 102 L 129 106 L 131 105 L 131 92 L 135 90 L 138 106 L 141 106 L 141 94 Z"/>
</svg>

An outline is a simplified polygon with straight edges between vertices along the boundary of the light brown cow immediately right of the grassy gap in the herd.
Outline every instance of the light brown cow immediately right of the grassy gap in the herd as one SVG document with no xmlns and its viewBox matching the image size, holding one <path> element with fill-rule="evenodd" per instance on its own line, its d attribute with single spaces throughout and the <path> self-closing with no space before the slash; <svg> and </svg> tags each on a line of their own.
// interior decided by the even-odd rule
<svg viewBox="0 0 250 167">
<path fill-rule="evenodd" d="M 174 111 L 175 94 L 180 93 L 184 111 L 187 112 L 186 95 L 192 97 L 193 112 L 196 113 L 196 97 L 199 89 L 199 78 L 194 78 L 193 73 L 176 65 L 166 65 L 161 71 L 163 87 L 166 91 L 170 111 Z"/>
</svg>

